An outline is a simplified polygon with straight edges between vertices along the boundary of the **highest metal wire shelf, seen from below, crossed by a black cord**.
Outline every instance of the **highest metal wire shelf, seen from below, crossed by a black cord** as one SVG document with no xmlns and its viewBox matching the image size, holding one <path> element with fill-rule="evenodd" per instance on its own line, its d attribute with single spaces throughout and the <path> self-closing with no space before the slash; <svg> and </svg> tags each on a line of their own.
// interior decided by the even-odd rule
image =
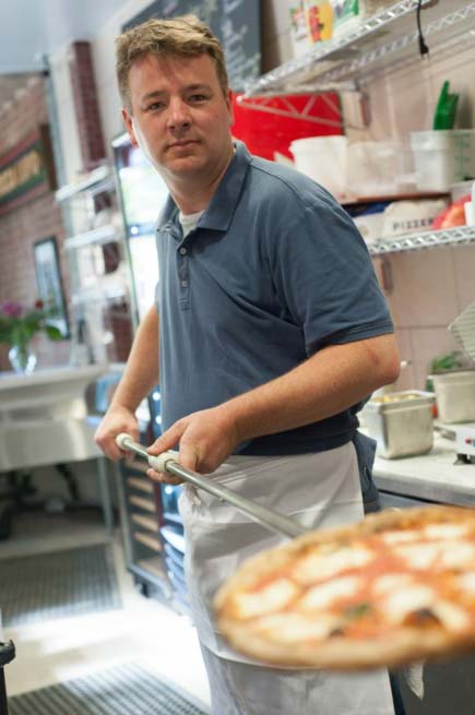
<svg viewBox="0 0 475 715">
<path fill-rule="evenodd" d="M 357 90 L 377 75 L 420 61 L 416 26 L 417 0 L 402 0 L 357 28 L 323 43 L 301 57 L 263 74 L 246 86 L 249 97 L 330 90 Z M 423 2 L 423 32 L 430 51 L 474 41 L 475 2 Z"/>
</svg>

